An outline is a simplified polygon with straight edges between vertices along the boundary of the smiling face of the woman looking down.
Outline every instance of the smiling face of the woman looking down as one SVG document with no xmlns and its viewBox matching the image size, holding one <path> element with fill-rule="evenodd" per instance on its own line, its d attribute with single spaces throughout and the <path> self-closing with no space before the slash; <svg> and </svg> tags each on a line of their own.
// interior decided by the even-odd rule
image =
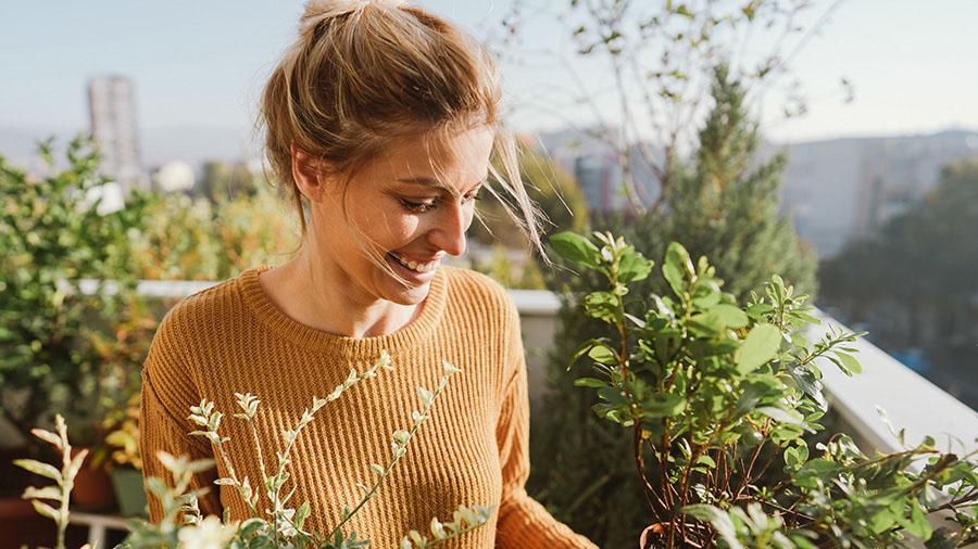
<svg viewBox="0 0 978 549">
<path fill-rule="evenodd" d="M 326 181 L 324 196 L 312 202 L 314 259 L 365 305 L 421 303 L 440 259 L 465 252 L 491 149 L 488 128 L 437 144 L 418 136 L 367 162 L 346 184 Z"/>
</svg>

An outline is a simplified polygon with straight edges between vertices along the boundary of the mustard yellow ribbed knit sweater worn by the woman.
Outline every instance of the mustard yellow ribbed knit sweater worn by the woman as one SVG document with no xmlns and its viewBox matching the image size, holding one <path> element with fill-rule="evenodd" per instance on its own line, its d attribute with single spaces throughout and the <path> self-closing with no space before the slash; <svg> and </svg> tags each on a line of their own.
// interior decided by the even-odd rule
<svg viewBox="0 0 978 549">
<path fill-rule="evenodd" d="M 216 403 L 225 417 L 218 431 L 230 442 L 238 478 L 261 483 L 250 431 L 235 393 L 261 399 L 256 427 L 265 467 L 272 474 L 275 455 L 285 450 L 281 431 L 292 429 L 313 397 L 324 398 L 355 368 L 363 372 L 386 349 L 394 371 L 380 370 L 318 411 L 292 446 L 294 487 L 287 507 L 309 501 L 313 509 L 304 529 L 327 534 L 340 522 L 343 505 L 360 501 L 363 483 L 373 486 L 371 463 L 390 460 L 391 434 L 411 425 L 421 410 L 418 386 L 435 390 L 447 360 L 453 375 L 426 421 L 412 438 L 379 496 L 347 523 L 371 547 L 396 548 L 409 529 L 428 532 L 432 516 L 451 520 L 459 505 L 498 506 L 490 522 L 444 544 L 446 549 L 593 548 L 556 522 L 529 498 L 527 454 L 528 400 L 519 317 L 506 292 L 481 274 L 441 267 L 421 315 L 389 335 L 352 339 L 316 331 L 289 319 L 267 299 L 258 276 L 268 267 L 246 271 L 174 307 L 156 332 L 142 378 L 140 445 L 143 474 L 170 480 L 155 458 L 159 450 L 195 459 L 215 458 L 187 419 L 202 398 Z M 216 470 L 199 475 L 197 486 L 212 493 L 201 500 L 204 514 L 229 508 L 233 519 L 250 516 L 230 486 L 213 485 L 228 476 Z M 263 507 L 264 506 L 264 507 Z M 259 503 L 267 509 L 267 499 Z M 159 500 L 150 496 L 150 515 L 160 521 Z"/>
</svg>

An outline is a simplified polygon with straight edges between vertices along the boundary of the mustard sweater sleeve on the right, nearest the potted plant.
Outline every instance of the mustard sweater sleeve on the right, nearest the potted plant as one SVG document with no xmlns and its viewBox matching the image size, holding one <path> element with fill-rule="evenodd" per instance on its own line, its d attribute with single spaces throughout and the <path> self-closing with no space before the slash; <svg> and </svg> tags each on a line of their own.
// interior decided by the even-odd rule
<svg viewBox="0 0 978 549">
<path fill-rule="evenodd" d="M 511 304 L 512 305 L 512 304 Z M 556 521 L 525 489 L 529 476 L 529 398 L 519 316 L 510 308 L 506 359 L 507 382 L 500 407 L 496 437 L 502 465 L 502 501 L 497 547 L 502 549 L 597 549 L 586 537 Z"/>
</svg>

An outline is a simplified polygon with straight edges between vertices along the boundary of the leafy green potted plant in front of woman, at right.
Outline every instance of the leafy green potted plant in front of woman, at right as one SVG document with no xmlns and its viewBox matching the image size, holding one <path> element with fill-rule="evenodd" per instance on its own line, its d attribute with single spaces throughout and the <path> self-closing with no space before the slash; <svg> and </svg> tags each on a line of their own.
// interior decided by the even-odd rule
<svg viewBox="0 0 978 549">
<path fill-rule="evenodd" d="M 561 233 L 567 259 L 602 273 L 606 291 L 584 311 L 615 328 L 615 339 L 584 342 L 594 412 L 631 433 L 649 509 L 641 544 L 654 548 L 905 547 L 978 541 L 976 452 L 941 452 L 932 438 L 891 455 L 864 455 L 845 435 L 810 449 L 806 433 L 828 405 L 816 360 L 860 373 L 849 343 L 861 334 L 818 323 L 807 296 L 775 276 L 764 297 L 737 304 L 705 257 L 693 263 L 672 243 L 662 276 L 672 295 L 636 296 L 629 284 L 653 263 L 622 238 Z M 902 435 L 901 442 L 903 441 Z M 952 511 L 933 529 L 931 513 Z M 638 533 L 636 533 L 638 535 Z"/>
</svg>

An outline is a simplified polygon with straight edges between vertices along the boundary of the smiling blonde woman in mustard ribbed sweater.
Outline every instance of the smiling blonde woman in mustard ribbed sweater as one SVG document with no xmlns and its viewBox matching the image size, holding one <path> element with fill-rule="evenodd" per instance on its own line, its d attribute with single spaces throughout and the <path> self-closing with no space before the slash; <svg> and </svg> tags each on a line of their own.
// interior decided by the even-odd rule
<svg viewBox="0 0 978 549">
<path fill-rule="evenodd" d="M 499 191 L 539 246 L 512 139 L 499 131 L 499 101 L 485 49 L 431 14 L 399 2 L 306 5 L 262 105 L 268 158 L 294 202 L 303 245 L 285 265 L 246 271 L 167 315 L 143 369 L 147 476 L 167 477 L 161 449 L 214 457 L 206 439 L 187 435 L 189 407 L 202 398 L 225 413 L 237 411 L 235 393 L 261 398 L 259 438 L 274 456 L 314 396 L 387 350 L 394 370 L 327 405 L 292 447 L 285 491 L 297 490 L 291 506 L 312 506 L 305 529 L 328 532 L 342 506 L 360 500 L 355 484 L 373 484 L 369 464 L 389 461 L 391 433 L 419 408 L 415 388 L 434 388 L 447 361 L 462 373 L 349 528 L 396 547 L 460 505 L 498 506 L 486 526 L 447 547 L 593 547 L 524 490 L 528 404 L 515 307 L 489 279 L 440 266 L 465 250 L 493 148 L 507 166 L 494 179 L 510 182 Z M 258 485 L 244 422 L 226 419 L 222 435 L 238 478 Z M 218 461 L 197 486 L 213 488 L 224 469 Z M 205 514 L 249 515 L 227 486 L 200 505 Z"/>
</svg>

